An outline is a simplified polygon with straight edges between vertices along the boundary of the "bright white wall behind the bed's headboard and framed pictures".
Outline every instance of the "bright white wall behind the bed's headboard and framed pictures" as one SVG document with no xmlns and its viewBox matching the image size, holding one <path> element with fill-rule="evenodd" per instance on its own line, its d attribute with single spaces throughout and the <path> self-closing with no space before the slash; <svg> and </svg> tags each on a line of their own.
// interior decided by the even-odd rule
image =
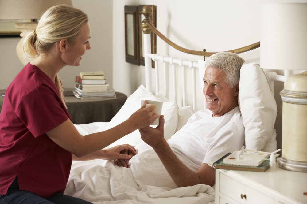
<svg viewBox="0 0 307 204">
<path fill-rule="evenodd" d="M 124 5 L 157 6 L 157 29 L 179 46 L 191 50 L 218 52 L 237 49 L 260 41 L 261 3 L 307 2 L 306 0 L 113 0 L 113 85 L 126 95 L 140 84 L 145 85 L 144 67 L 125 62 Z M 116 40 L 115 40 L 116 39 Z M 260 48 L 240 54 L 247 62 L 260 63 Z M 203 57 L 182 54 L 157 37 L 157 53 L 184 56 L 197 61 Z M 275 70 L 266 70 L 274 71 Z M 278 72 L 283 75 L 283 72 Z M 278 148 L 281 148 L 282 82 L 275 82 L 274 97 L 278 106 L 275 123 Z M 197 86 L 198 87 L 198 86 Z M 202 93 L 197 100 L 202 102 Z M 188 98 L 189 99 L 189 98 Z M 199 109 L 199 106 L 197 107 Z"/>
</svg>

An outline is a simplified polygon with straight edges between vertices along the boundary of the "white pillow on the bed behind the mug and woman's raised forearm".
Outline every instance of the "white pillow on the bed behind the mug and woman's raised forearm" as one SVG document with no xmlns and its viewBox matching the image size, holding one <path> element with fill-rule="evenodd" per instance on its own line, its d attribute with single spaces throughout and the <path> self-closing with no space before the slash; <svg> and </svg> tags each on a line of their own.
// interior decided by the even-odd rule
<svg viewBox="0 0 307 204">
<path fill-rule="evenodd" d="M 132 113 L 141 108 L 141 100 L 155 100 L 162 101 L 163 99 L 155 97 L 152 93 L 146 90 L 146 88 L 141 85 L 138 87 L 133 94 L 131 94 L 122 108 L 118 113 L 111 119 L 109 127 L 115 127 L 116 125 L 122 123 L 127 120 Z M 165 139 L 169 139 L 176 131 L 178 124 L 178 116 L 177 116 L 178 106 L 176 102 L 163 102 L 162 106 L 162 115 L 164 115 L 165 124 L 164 124 L 164 137 Z M 153 126 L 156 127 L 156 126 Z M 138 130 L 124 136 L 123 138 L 117 140 L 115 143 L 111 144 L 109 147 L 114 147 L 118 144 L 128 143 L 131 145 L 136 145 L 141 142 L 141 136 Z"/>
</svg>

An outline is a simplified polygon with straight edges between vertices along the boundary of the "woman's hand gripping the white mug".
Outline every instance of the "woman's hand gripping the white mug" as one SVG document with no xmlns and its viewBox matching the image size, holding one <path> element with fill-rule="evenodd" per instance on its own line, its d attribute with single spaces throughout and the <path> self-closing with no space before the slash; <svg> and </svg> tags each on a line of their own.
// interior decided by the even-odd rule
<svg viewBox="0 0 307 204">
<path fill-rule="evenodd" d="M 156 113 L 156 106 L 151 104 L 146 107 L 146 104 L 147 101 L 145 100 L 143 106 L 134 112 L 128 119 L 135 129 L 147 127 L 159 117 Z"/>
</svg>

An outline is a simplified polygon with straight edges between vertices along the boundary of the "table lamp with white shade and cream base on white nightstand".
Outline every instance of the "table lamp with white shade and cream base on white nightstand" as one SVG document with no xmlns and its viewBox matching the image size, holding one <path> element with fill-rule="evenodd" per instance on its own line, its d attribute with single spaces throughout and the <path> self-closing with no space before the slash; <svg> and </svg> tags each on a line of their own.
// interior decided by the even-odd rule
<svg viewBox="0 0 307 204">
<path fill-rule="evenodd" d="M 285 70 L 279 167 L 307 172 L 307 3 L 261 5 L 260 66 Z"/>
</svg>

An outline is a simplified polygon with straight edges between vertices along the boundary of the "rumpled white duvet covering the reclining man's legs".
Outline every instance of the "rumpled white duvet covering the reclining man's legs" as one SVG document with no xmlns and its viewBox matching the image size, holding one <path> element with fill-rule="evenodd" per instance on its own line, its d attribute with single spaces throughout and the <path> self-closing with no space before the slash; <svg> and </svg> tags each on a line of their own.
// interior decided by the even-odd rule
<svg viewBox="0 0 307 204">
<path fill-rule="evenodd" d="M 108 123 L 75 126 L 85 135 L 107 129 Z M 95 204 L 109 202 L 185 204 L 214 201 L 215 193 L 212 187 L 199 184 L 177 188 L 150 146 L 141 142 L 136 149 L 137 155 L 131 158 L 129 168 L 119 167 L 112 161 L 105 160 L 73 161 L 64 194 Z"/>
</svg>

